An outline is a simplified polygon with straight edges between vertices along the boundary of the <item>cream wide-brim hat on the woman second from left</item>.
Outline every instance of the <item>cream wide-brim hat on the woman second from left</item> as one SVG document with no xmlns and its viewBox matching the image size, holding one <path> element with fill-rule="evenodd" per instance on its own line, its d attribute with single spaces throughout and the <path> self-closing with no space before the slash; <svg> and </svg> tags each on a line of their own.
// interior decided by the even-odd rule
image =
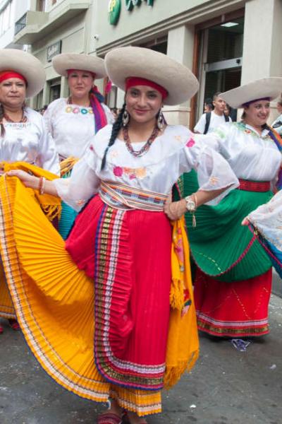
<svg viewBox="0 0 282 424">
<path fill-rule="evenodd" d="M 62 76 L 68 76 L 68 69 L 92 72 L 96 79 L 106 76 L 104 59 L 89 54 L 61 53 L 52 59 L 52 64 L 55 71 Z"/>
</svg>

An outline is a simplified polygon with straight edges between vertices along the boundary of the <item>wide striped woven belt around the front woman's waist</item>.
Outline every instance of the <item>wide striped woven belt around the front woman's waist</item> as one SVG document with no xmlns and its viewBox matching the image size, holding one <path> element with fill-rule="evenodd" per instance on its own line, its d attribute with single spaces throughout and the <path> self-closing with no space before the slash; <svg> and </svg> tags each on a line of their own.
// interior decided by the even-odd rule
<svg viewBox="0 0 282 424">
<path fill-rule="evenodd" d="M 135 189 L 124 184 L 102 182 L 99 196 L 107 205 L 116 209 L 142 209 L 144 211 L 164 211 L 167 196 L 155 192 Z"/>
</svg>

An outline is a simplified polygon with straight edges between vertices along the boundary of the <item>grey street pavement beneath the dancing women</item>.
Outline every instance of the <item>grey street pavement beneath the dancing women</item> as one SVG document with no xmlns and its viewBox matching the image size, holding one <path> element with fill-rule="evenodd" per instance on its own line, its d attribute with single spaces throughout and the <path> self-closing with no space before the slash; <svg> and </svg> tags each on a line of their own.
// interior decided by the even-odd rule
<svg viewBox="0 0 282 424">
<path fill-rule="evenodd" d="M 190 375 L 164 391 L 164 412 L 150 424 L 281 424 L 282 299 L 271 296 L 271 334 L 247 351 L 230 341 L 200 337 Z M 0 424 L 94 424 L 104 405 L 56 384 L 38 365 L 20 332 L 0 336 Z"/>
</svg>

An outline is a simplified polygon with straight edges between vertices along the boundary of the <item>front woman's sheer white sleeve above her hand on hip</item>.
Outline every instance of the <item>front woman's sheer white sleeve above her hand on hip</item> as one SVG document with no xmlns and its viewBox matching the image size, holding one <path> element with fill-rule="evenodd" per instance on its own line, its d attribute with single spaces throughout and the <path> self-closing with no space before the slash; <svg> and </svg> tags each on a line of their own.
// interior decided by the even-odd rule
<svg viewBox="0 0 282 424">
<path fill-rule="evenodd" d="M 191 133 L 192 134 L 192 133 Z M 235 176 L 228 162 L 207 143 L 195 140 L 192 134 L 183 149 L 183 162 L 181 172 L 197 171 L 200 190 L 212 191 L 226 188 L 209 205 L 216 205 L 231 190 L 238 187 L 238 178 Z"/>
</svg>

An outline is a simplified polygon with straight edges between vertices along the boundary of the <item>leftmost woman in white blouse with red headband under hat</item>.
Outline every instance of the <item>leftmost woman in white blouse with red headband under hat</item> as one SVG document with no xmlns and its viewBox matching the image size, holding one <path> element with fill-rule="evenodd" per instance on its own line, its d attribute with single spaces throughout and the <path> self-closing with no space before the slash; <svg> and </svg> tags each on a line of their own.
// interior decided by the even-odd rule
<svg viewBox="0 0 282 424">
<path fill-rule="evenodd" d="M 25 99 L 42 90 L 44 67 L 31 54 L 18 49 L 0 50 L 0 168 L 7 163 L 35 164 L 59 174 L 59 158 L 42 116 L 25 106 Z M 1 266 L 0 317 L 19 329 Z M 0 334 L 3 327 L 0 326 Z"/>
</svg>

